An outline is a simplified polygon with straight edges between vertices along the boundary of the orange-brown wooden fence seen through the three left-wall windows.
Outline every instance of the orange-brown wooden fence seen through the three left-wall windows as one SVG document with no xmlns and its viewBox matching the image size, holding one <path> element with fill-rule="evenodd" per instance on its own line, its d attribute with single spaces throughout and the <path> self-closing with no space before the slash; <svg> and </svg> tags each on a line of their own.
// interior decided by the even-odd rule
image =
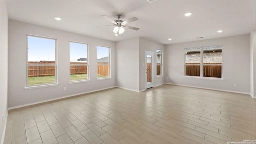
<svg viewBox="0 0 256 144">
<path fill-rule="evenodd" d="M 55 64 L 54 61 L 28 62 L 28 64 Z M 70 62 L 70 64 L 86 64 L 84 62 Z M 98 64 L 108 64 L 100 63 Z M 98 74 L 109 76 L 107 65 L 97 66 Z M 87 66 L 70 66 L 70 74 L 87 74 Z M 28 77 L 54 76 L 55 66 L 28 66 Z"/>
</svg>

